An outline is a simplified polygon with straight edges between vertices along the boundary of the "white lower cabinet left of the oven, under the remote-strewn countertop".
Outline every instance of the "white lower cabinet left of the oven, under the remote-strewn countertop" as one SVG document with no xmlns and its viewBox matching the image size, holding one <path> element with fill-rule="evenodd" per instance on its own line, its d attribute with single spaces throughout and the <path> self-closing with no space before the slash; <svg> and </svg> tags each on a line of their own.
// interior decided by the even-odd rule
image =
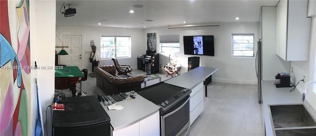
<svg viewBox="0 0 316 136">
<path fill-rule="evenodd" d="M 133 125 L 113 131 L 113 136 L 160 136 L 159 111 Z"/>
</svg>

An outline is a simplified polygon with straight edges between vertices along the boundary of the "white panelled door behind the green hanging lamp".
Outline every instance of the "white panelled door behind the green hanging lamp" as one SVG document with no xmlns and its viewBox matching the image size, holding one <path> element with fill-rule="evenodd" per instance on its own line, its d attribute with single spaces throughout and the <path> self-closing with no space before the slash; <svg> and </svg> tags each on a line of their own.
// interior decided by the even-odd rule
<svg viewBox="0 0 316 136">
<path fill-rule="evenodd" d="M 64 48 L 68 55 L 59 55 L 60 64 L 78 66 L 81 69 L 81 35 L 63 35 Z"/>
</svg>

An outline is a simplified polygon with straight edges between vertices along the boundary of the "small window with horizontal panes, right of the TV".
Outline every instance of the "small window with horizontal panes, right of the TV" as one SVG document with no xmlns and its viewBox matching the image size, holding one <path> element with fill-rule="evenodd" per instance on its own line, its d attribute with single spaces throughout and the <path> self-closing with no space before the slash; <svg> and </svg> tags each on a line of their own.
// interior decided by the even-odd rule
<svg viewBox="0 0 316 136">
<path fill-rule="evenodd" d="M 232 35 L 233 57 L 254 57 L 253 34 Z"/>
</svg>

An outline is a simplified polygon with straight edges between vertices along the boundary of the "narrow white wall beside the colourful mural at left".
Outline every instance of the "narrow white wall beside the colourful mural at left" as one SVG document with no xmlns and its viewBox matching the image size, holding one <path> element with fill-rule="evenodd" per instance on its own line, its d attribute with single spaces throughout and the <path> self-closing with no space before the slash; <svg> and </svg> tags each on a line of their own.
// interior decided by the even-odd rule
<svg viewBox="0 0 316 136">
<path fill-rule="evenodd" d="M 54 66 L 55 54 L 55 25 L 56 25 L 56 1 L 55 0 L 31 0 L 30 1 L 30 43 L 31 66 L 35 61 L 39 67 Z M 37 77 L 36 73 L 37 72 Z M 31 89 L 36 90 L 35 78 L 38 81 L 39 98 L 41 103 L 42 120 L 45 123 L 45 110 L 51 105 L 54 95 L 54 69 L 31 70 Z M 36 97 L 32 103 L 36 103 Z M 36 111 L 32 111 L 36 121 Z M 49 118 L 49 116 L 48 116 Z M 32 120 L 34 121 L 34 120 Z M 32 123 L 32 130 L 36 122 Z M 32 131 L 32 136 L 34 136 Z"/>
</svg>

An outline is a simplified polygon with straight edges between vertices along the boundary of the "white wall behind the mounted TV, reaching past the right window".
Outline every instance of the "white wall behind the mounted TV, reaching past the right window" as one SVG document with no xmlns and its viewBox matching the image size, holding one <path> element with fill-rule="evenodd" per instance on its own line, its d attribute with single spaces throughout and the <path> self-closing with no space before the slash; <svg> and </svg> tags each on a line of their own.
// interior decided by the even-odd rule
<svg viewBox="0 0 316 136">
<path fill-rule="evenodd" d="M 254 49 L 257 51 L 257 41 L 259 39 L 259 24 L 254 23 L 221 23 L 218 27 L 196 27 L 167 29 L 167 27 L 145 29 L 143 37 L 147 33 L 157 33 L 157 51 L 159 52 L 160 35 L 180 35 L 180 53 L 173 54 L 177 57 L 177 63 L 183 67 L 181 73 L 187 71 L 188 57 L 193 55 L 184 55 L 183 36 L 194 35 L 213 35 L 215 56 L 199 56 L 200 66 L 219 68 L 212 76 L 213 81 L 237 84 L 257 84 L 255 71 L 255 57 L 240 58 L 232 57 L 232 34 L 254 34 Z M 146 39 L 144 39 L 145 42 Z M 144 43 L 143 42 L 143 43 Z M 144 48 L 146 45 L 143 45 Z M 160 64 L 168 63 L 168 55 L 160 55 Z"/>
</svg>

